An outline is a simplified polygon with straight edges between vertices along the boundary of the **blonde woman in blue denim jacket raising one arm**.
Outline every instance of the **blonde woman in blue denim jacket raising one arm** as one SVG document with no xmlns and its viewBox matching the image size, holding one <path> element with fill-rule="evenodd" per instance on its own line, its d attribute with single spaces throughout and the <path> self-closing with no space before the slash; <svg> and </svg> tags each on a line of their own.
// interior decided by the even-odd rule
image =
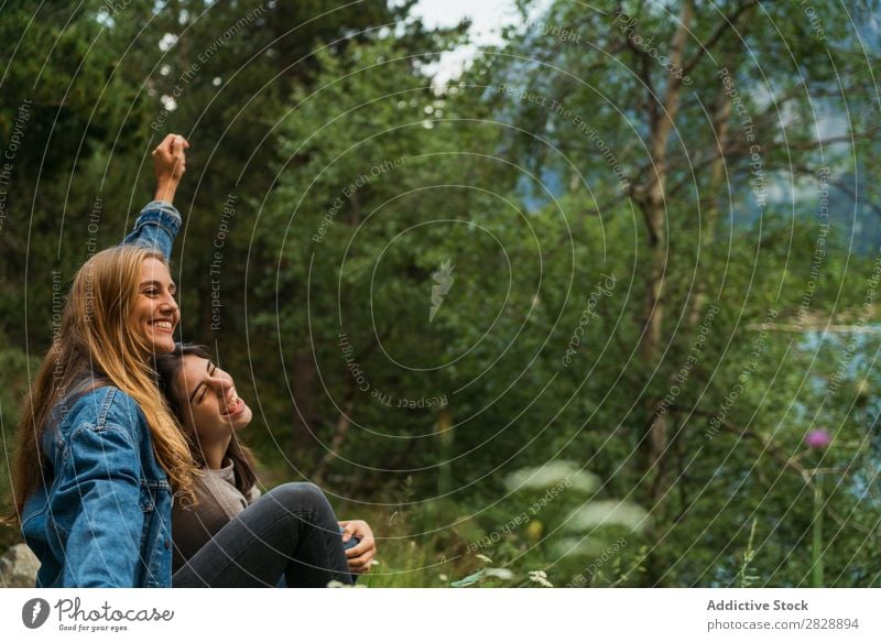
<svg viewBox="0 0 881 642">
<path fill-rule="evenodd" d="M 39 587 L 171 586 L 172 492 L 189 491 L 196 465 L 151 363 L 180 318 L 167 258 L 187 146 L 172 134 L 153 152 L 156 200 L 77 272 L 25 402 L 11 519 Z"/>
</svg>

